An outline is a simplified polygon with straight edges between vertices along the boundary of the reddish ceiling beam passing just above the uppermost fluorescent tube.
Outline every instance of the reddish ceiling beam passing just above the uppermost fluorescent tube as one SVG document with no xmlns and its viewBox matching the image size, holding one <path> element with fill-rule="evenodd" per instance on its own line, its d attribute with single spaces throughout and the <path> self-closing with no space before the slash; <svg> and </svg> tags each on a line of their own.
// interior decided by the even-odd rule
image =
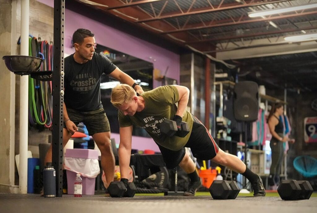
<svg viewBox="0 0 317 213">
<path fill-rule="evenodd" d="M 241 9 L 241 8 L 246 8 L 246 7 L 254 7 L 254 6 L 260 6 L 260 5 L 265 5 L 265 4 L 273 4 L 273 3 L 280 3 L 280 2 L 286 2 L 290 0 L 279 0 L 279 1 L 249 1 L 249 3 L 245 4 L 222 4 L 222 5 L 215 5 L 213 6 L 214 8 L 208 7 L 206 8 L 200 8 L 199 10 L 196 11 L 191 11 L 191 12 L 179 12 L 176 14 L 169 14 L 169 15 L 163 15 L 163 16 L 158 16 L 158 17 L 153 17 L 153 18 L 145 18 L 145 19 L 140 19 L 139 21 L 136 22 L 149 22 L 149 21 L 156 21 L 156 20 L 162 20 L 165 18 L 175 18 L 175 17 L 181 17 L 181 16 L 190 16 L 190 15 L 197 15 L 197 14 L 203 14 L 203 13 L 211 13 L 211 12 L 220 12 L 220 11 L 225 11 L 225 10 L 233 10 L 233 9 Z"/>
</svg>

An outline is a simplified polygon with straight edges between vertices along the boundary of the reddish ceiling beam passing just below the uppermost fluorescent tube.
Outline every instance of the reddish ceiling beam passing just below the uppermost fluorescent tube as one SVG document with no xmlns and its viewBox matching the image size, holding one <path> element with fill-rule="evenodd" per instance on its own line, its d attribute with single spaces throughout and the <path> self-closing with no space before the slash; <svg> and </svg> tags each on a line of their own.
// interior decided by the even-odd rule
<svg viewBox="0 0 317 213">
<path fill-rule="evenodd" d="M 190 31 L 190 30 L 201 30 L 201 29 L 208 29 L 212 27 L 223 27 L 223 26 L 230 26 L 230 25 L 236 25 L 236 24 L 249 24 L 254 22 L 272 21 L 272 20 L 278 20 L 278 19 L 284 19 L 284 18 L 308 16 L 313 14 L 317 14 L 317 10 L 310 11 L 310 12 L 290 14 L 290 15 L 273 16 L 268 18 L 257 18 L 257 19 L 241 20 L 241 21 L 231 21 L 231 22 L 221 23 L 221 24 L 210 24 L 210 25 L 201 25 L 196 27 L 187 27 L 187 28 L 178 29 L 178 30 L 164 31 L 164 32 L 161 32 L 161 34 L 169 34 L 169 33 L 183 32 L 183 31 Z"/>
</svg>

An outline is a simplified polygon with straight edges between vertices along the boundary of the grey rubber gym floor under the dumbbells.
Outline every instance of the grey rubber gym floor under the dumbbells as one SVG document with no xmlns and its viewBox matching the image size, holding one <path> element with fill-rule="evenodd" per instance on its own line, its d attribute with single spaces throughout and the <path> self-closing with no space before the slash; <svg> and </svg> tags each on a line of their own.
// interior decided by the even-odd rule
<svg viewBox="0 0 317 213">
<path fill-rule="evenodd" d="M 1 213 L 313 213 L 317 212 L 317 192 L 309 200 L 283 201 L 277 193 L 266 197 L 239 194 L 235 200 L 213 200 L 209 192 L 197 192 L 195 197 L 136 194 L 133 198 L 112 198 L 104 195 L 44 198 L 38 194 L 0 193 Z"/>
</svg>

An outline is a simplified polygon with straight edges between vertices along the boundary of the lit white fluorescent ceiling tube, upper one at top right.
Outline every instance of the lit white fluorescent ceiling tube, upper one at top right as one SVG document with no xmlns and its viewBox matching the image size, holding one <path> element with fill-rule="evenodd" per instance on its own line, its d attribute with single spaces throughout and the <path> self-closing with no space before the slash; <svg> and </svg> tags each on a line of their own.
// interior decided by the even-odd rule
<svg viewBox="0 0 317 213">
<path fill-rule="evenodd" d="M 253 18 L 253 17 L 268 16 L 268 15 L 273 15 L 278 13 L 286 13 L 286 12 L 291 12 L 296 10 L 312 9 L 315 7 L 317 7 L 317 3 L 297 5 L 297 6 L 285 7 L 285 8 L 276 8 L 272 10 L 260 10 L 257 12 L 250 12 L 248 13 L 248 15 L 249 17 Z"/>
</svg>

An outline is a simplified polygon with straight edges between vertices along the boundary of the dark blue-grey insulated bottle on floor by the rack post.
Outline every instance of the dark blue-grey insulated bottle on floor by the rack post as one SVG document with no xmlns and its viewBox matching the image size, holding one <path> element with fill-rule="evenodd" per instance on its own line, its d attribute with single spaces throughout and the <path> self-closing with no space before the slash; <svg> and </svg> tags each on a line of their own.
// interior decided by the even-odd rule
<svg viewBox="0 0 317 213">
<path fill-rule="evenodd" d="M 46 163 L 43 169 L 43 191 L 44 197 L 56 196 L 56 171 L 51 162 Z"/>
</svg>

